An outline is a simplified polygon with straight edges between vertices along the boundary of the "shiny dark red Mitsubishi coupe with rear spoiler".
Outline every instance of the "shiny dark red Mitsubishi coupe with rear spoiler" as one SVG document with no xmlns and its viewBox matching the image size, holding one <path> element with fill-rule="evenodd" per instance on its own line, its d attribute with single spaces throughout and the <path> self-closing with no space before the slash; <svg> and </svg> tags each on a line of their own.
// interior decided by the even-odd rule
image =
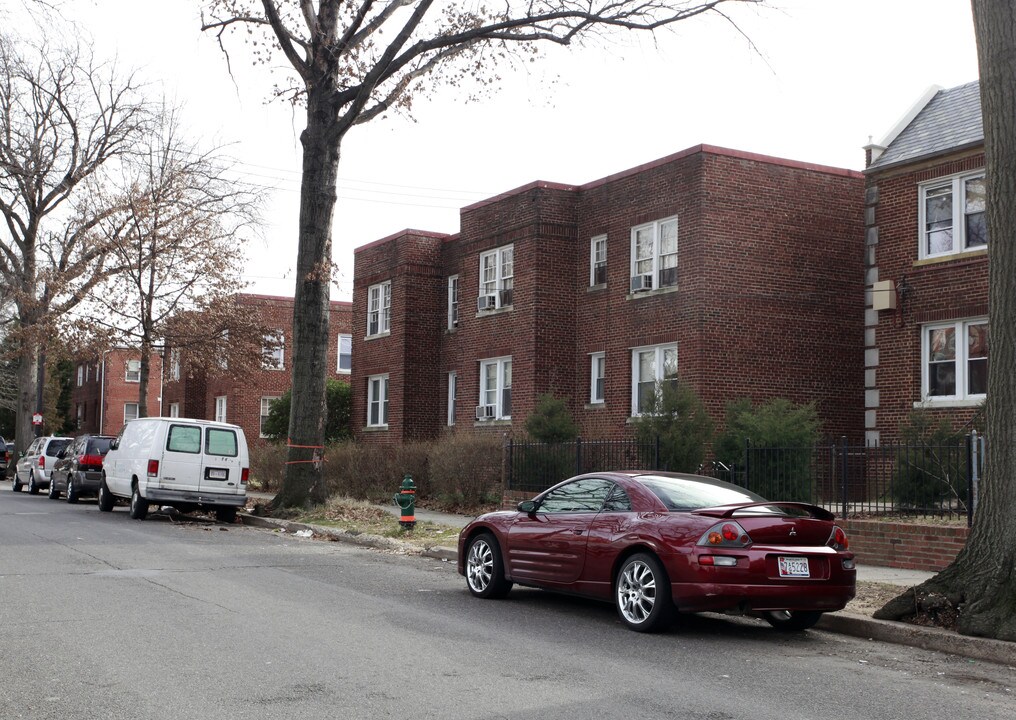
<svg viewBox="0 0 1016 720">
<path fill-rule="evenodd" d="M 666 628 L 675 610 L 805 630 L 842 609 L 856 580 L 829 511 L 654 471 L 579 475 L 480 516 L 458 536 L 458 572 L 477 597 L 518 583 L 613 601 L 638 632 Z"/>
</svg>

